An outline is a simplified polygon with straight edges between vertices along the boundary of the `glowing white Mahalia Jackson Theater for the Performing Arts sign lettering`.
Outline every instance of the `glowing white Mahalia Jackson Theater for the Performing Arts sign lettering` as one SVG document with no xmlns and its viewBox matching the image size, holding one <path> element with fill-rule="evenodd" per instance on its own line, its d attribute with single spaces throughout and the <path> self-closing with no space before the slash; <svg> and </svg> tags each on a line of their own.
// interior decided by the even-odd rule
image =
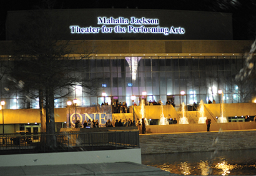
<svg viewBox="0 0 256 176">
<path fill-rule="evenodd" d="M 161 27 L 159 26 L 159 19 L 150 19 L 145 17 L 130 17 L 130 20 L 125 17 L 97 17 L 97 24 L 102 26 L 69 26 L 69 29 L 71 29 L 71 34 L 150 33 L 164 34 L 165 36 L 169 34 L 185 34 L 185 29 L 183 27 Z"/>
</svg>

